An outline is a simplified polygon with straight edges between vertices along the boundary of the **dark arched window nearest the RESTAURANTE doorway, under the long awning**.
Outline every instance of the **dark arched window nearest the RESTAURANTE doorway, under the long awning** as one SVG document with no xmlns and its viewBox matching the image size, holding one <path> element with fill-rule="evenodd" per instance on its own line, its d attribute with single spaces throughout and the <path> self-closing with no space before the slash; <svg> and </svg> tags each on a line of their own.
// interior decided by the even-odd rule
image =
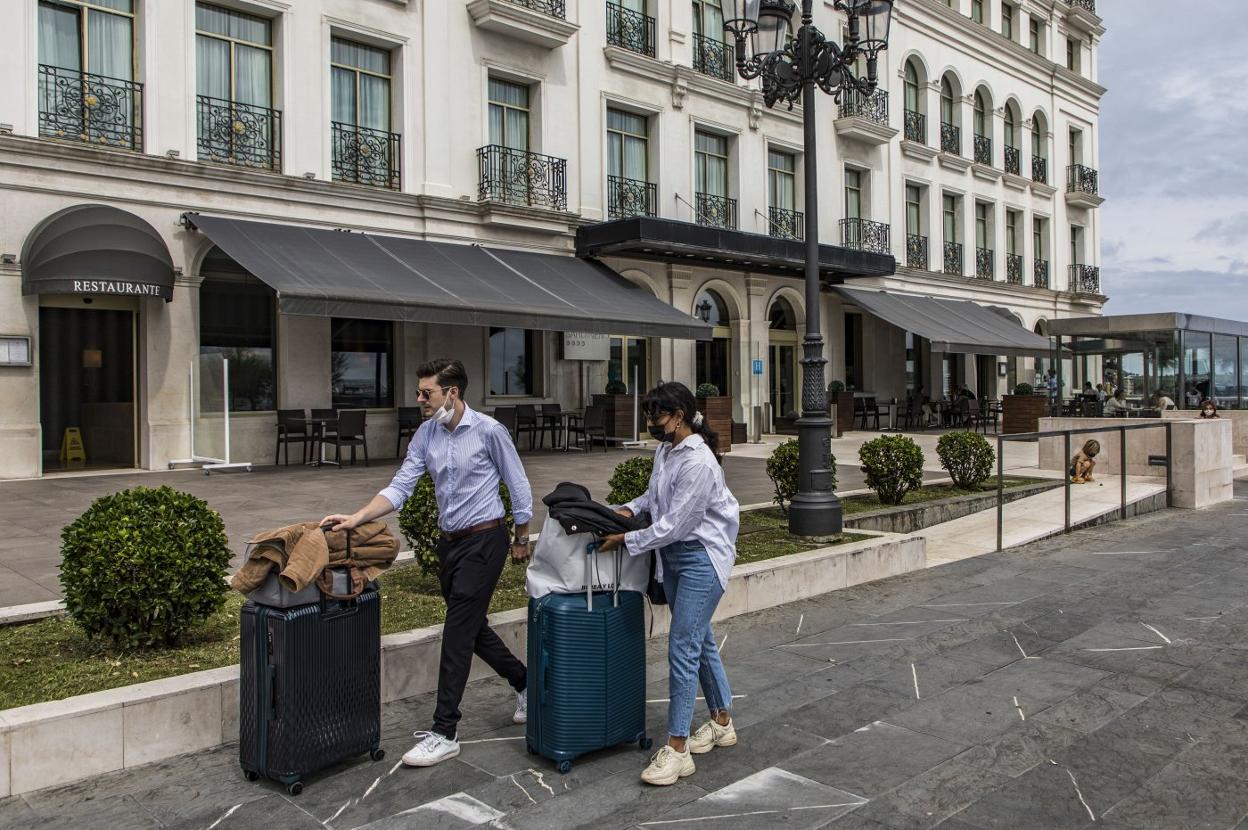
<svg viewBox="0 0 1248 830">
<path fill-rule="evenodd" d="M 221 248 L 200 267 L 200 354 L 230 361 L 230 408 L 276 408 L 273 394 L 273 290 Z"/>
</svg>

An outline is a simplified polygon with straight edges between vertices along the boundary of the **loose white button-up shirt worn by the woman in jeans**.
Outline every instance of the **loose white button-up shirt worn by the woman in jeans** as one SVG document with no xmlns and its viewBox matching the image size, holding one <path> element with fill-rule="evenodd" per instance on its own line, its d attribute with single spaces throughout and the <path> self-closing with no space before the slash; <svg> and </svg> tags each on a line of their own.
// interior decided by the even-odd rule
<svg viewBox="0 0 1248 830">
<path fill-rule="evenodd" d="M 634 514 L 649 512 L 651 519 L 650 527 L 624 534 L 624 547 L 631 555 L 676 542 L 699 542 L 728 590 L 741 510 L 724 483 L 724 468 L 701 436 L 693 434 L 675 447 L 664 442 L 654 453 L 654 472 L 645 493 L 624 507 Z M 661 559 L 655 577 L 663 579 Z"/>
</svg>

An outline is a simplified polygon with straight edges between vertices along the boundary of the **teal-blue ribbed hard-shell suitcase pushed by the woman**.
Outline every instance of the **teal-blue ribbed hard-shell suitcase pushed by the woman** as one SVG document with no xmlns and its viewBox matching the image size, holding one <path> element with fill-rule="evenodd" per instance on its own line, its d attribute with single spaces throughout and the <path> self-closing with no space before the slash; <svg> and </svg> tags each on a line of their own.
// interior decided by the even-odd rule
<svg viewBox="0 0 1248 830">
<path fill-rule="evenodd" d="M 574 759 L 598 749 L 629 741 L 650 749 L 641 593 L 530 599 L 528 634 L 530 753 L 568 773 Z"/>
</svg>

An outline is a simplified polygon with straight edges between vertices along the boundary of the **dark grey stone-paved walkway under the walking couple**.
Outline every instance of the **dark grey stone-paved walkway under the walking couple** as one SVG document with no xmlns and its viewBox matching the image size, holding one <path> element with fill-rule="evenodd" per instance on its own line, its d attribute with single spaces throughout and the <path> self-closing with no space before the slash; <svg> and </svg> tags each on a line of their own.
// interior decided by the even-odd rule
<svg viewBox="0 0 1248 830">
<path fill-rule="evenodd" d="M 1199 513 L 726 620 L 740 743 L 671 788 L 638 781 L 635 746 L 559 775 L 524 751 L 510 690 L 492 679 L 469 686 L 459 758 L 429 770 L 396 765 L 428 724 L 427 694 L 387 706 L 386 760 L 341 764 L 297 798 L 245 781 L 227 745 L 0 800 L 0 828 L 1248 828 L 1238 487 Z M 794 648 L 841 639 L 876 642 Z M 659 738 L 661 640 L 648 666 Z"/>
</svg>

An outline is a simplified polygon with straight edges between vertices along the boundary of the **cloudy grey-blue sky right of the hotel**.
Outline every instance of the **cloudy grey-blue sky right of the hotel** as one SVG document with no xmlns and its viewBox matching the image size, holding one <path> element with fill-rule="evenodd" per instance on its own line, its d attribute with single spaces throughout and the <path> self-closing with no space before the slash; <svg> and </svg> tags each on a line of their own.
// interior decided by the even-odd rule
<svg viewBox="0 0 1248 830">
<path fill-rule="evenodd" d="M 1182 5 L 1097 0 L 1106 313 L 1248 321 L 1248 0 Z"/>
</svg>

